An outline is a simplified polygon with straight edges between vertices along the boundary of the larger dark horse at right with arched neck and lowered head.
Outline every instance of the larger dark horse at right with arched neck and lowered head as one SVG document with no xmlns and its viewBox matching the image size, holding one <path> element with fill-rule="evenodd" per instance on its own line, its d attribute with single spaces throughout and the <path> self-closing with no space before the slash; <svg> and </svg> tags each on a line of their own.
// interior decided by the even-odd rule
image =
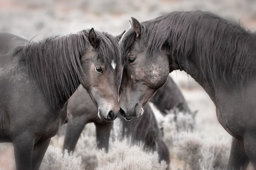
<svg viewBox="0 0 256 170">
<path fill-rule="evenodd" d="M 139 23 L 123 37 L 119 87 L 122 115 L 143 107 L 173 70 L 184 70 L 207 92 L 219 123 L 233 136 L 228 169 L 256 168 L 256 34 L 202 11 L 171 12 Z"/>
</svg>

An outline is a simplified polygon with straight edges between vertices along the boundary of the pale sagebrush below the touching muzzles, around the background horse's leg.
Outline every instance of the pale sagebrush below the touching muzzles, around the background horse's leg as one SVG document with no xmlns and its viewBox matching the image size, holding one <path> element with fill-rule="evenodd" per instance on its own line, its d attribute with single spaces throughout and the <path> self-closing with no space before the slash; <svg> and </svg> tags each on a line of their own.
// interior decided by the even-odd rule
<svg viewBox="0 0 256 170">
<path fill-rule="evenodd" d="M 123 170 L 123 169 L 152 169 L 166 168 L 166 162 L 158 163 L 158 154 L 143 151 L 143 144 L 131 145 L 131 139 L 120 140 L 120 121 L 114 123 L 111 132 L 109 152 L 97 149 L 95 126 L 87 124 L 77 142 L 74 153 L 81 156 L 82 168 L 86 170 Z"/>
</svg>

